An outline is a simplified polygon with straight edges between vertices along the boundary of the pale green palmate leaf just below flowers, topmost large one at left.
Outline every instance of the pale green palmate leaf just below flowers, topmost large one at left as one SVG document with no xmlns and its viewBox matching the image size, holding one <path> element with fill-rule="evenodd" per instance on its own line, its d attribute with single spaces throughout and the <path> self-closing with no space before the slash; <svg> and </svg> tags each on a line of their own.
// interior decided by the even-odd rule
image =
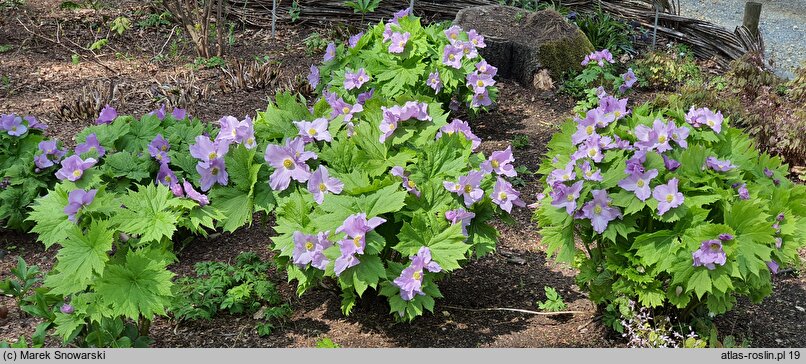
<svg viewBox="0 0 806 364">
<path fill-rule="evenodd" d="M 171 239 L 180 213 L 170 208 L 168 200 L 174 198 L 171 190 L 161 184 L 137 185 L 137 192 L 129 190 L 121 196 L 125 206 L 112 217 L 112 222 L 128 234 L 140 235 L 140 243 Z"/>
</svg>

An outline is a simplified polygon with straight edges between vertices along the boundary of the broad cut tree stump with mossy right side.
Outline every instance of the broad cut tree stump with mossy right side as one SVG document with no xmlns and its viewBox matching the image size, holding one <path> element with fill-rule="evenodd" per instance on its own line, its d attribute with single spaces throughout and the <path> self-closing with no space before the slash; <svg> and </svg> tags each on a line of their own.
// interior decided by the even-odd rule
<svg viewBox="0 0 806 364">
<path fill-rule="evenodd" d="M 532 85 L 541 69 L 555 79 L 580 71 L 593 45 L 579 28 L 554 10 L 530 12 L 512 6 L 486 5 L 465 8 L 454 24 L 475 29 L 484 36 L 486 48 L 479 53 L 498 67 L 498 75 Z"/>
</svg>

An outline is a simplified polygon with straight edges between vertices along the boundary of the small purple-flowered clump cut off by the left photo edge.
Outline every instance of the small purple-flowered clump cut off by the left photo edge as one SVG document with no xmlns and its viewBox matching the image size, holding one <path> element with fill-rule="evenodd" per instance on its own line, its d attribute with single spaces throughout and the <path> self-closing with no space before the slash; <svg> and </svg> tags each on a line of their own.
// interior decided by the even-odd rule
<svg viewBox="0 0 806 364">
<path fill-rule="evenodd" d="M 34 116 L 0 114 L 0 226 L 27 231 L 27 206 L 53 187 L 53 172 L 65 155 L 43 136 L 47 125 Z"/>
</svg>

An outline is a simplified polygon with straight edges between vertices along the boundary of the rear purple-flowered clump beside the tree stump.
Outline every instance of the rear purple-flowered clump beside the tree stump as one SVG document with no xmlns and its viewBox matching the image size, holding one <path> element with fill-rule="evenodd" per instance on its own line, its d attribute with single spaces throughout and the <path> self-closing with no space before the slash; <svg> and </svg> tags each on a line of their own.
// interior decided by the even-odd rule
<svg viewBox="0 0 806 364">
<path fill-rule="evenodd" d="M 493 80 L 497 69 L 478 53 L 485 46 L 474 30 L 423 27 L 420 18 L 402 10 L 347 44 L 330 43 L 323 62 L 311 66 L 308 81 L 317 91 L 332 93 L 327 97 L 330 118 L 343 115 L 344 122 L 361 112 L 373 92 L 387 98 L 428 95 L 479 110 L 490 107 L 498 95 Z"/>
</svg>

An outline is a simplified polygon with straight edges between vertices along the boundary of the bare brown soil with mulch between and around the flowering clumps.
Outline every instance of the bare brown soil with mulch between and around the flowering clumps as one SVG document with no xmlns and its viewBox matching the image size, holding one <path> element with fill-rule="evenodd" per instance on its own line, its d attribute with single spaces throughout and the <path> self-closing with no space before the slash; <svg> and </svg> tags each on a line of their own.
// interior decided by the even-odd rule
<svg viewBox="0 0 806 364">
<path fill-rule="evenodd" d="M 155 54 L 168 43 L 170 28 L 140 30 L 135 26 L 122 37 L 113 37 L 110 50 L 104 50 L 98 62 L 87 59 L 92 55 L 75 47 L 73 42 L 86 45 L 94 41 L 88 24 L 120 14 L 136 22 L 135 12 L 144 9 L 139 1 L 104 3 L 107 7 L 100 11 L 76 13 L 59 10 L 59 1 L 29 0 L 23 8 L 0 14 L 0 44 L 14 47 L 10 52 L 0 53 L 0 76 L 10 79 L 0 88 L 0 112 L 36 115 L 50 125 L 49 136 L 68 141 L 93 121 L 62 120 L 57 111 L 60 105 L 75 99 L 88 80 L 114 79 L 126 85 L 130 93 L 125 105 L 119 108 L 123 113 L 142 114 L 157 107 L 148 96 L 152 80 L 187 71 L 185 64 L 192 63 L 192 50 L 188 48 L 175 58 L 154 61 Z M 30 32 L 20 24 L 25 24 Z M 313 31 L 328 34 L 331 28 L 313 22 L 282 25 L 276 39 L 265 30 L 238 29 L 235 44 L 227 54 L 245 60 L 268 55 L 281 64 L 283 77 L 289 80 L 297 74 L 307 74 L 309 65 L 318 62 L 319 55 L 306 55 L 303 39 Z M 56 39 L 56 30 L 64 46 L 42 38 Z M 73 52 L 83 55 L 78 65 L 70 62 Z M 115 52 L 126 56 L 115 57 Z M 211 89 L 215 89 L 221 77 L 217 69 L 201 69 L 196 75 L 200 84 Z M 502 80 L 498 86 L 501 95 L 497 108 L 470 122 L 484 140 L 482 149 L 486 153 L 503 149 L 516 135 L 525 134 L 529 145 L 514 149 L 514 153 L 517 164 L 534 171 L 556 126 L 570 116 L 573 101 L 553 93 L 538 93 L 511 81 Z M 211 121 L 222 115 L 252 113 L 264 109 L 272 94 L 269 89 L 215 91 L 208 100 L 194 105 L 193 113 Z M 650 96 L 638 95 L 638 98 Z M 528 174 L 523 179 L 526 185 L 521 187 L 522 196 L 533 202 L 540 192 L 537 177 Z M 470 262 L 441 281 L 445 298 L 437 301 L 433 314 L 411 324 L 395 323 L 388 306 L 371 294 L 345 317 L 339 310 L 340 298 L 331 291 L 316 288 L 297 297 L 296 287 L 285 282 L 284 273 L 272 270 L 269 275 L 278 282 L 293 314 L 270 336 L 257 335 L 257 321 L 252 317 L 232 315 L 191 322 L 159 318 L 150 336 L 158 347 L 310 347 L 325 337 L 343 347 L 626 346 L 626 340 L 602 324 L 601 312 L 574 284 L 574 270 L 547 259 L 531 214 L 531 210 L 516 209 L 513 225 L 499 223 L 498 251 Z M 179 262 L 171 270 L 180 277 L 187 276 L 197 262 L 231 261 L 245 251 L 271 260 L 269 238 L 274 233 L 270 222 L 263 220 L 266 219 L 256 216 L 249 228 L 193 242 L 177 253 Z M 18 257 L 48 271 L 55 255 L 55 248 L 45 251 L 33 235 L 0 230 L 0 279 L 10 275 Z M 581 313 L 541 316 L 481 310 L 537 310 L 535 302 L 545 299 L 544 286 L 557 289 L 568 310 Z M 0 306 L 8 309 L 7 317 L 0 317 L 0 341 L 15 341 L 20 335 L 33 333 L 37 321 L 20 312 L 12 298 L 0 297 Z M 774 293 L 763 304 L 740 301 L 734 311 L 717 318 L 716 323 L 720 335 L 732 334 L 738 341 L 747 338 L 756 347 L 806 347 L 803 307 L 806 307 L 806 278 L 782 274 L 775 279 Z M 50 339 L 48 345 L 59 343 Z"/>
</svg>

